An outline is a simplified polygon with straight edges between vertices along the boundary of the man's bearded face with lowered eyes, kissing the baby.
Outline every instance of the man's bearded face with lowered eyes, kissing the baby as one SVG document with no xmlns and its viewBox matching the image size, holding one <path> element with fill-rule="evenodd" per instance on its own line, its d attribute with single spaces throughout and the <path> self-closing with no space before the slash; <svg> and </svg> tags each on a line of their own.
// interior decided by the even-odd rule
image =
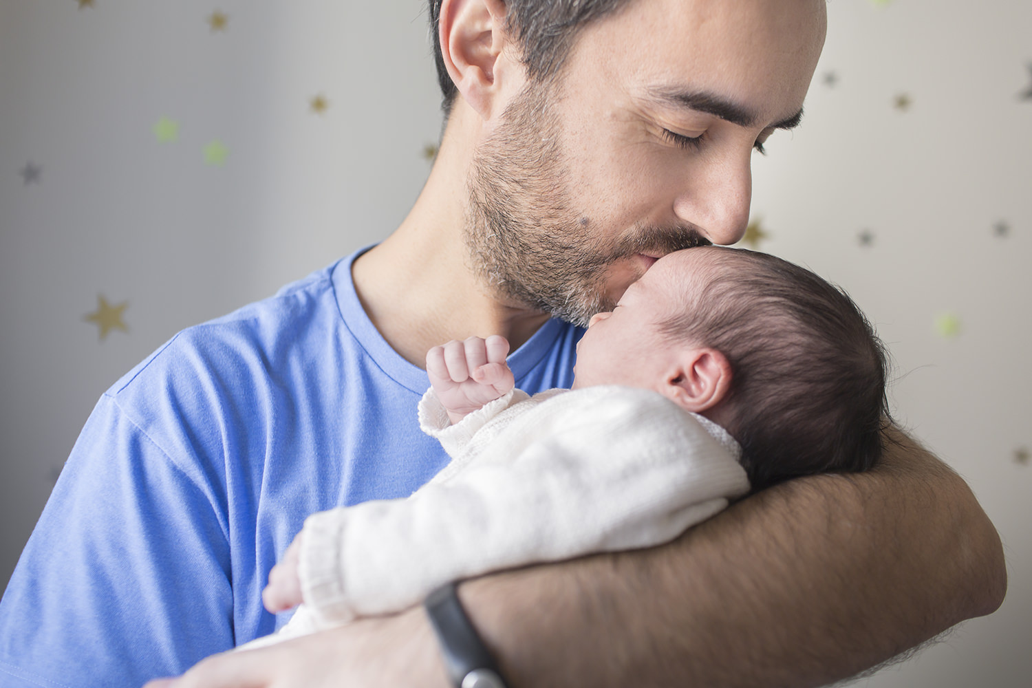
<svg viewBox="0 0 1032 688">
<path fill-rule="evenodd" d="M 825 25 L 825 0 L 635 0 L 585 27 L 477 151 L 475 268 L 583 325 L 657 257 L 737 241 L 753 148 L 798 123 Z"/>
</svg>

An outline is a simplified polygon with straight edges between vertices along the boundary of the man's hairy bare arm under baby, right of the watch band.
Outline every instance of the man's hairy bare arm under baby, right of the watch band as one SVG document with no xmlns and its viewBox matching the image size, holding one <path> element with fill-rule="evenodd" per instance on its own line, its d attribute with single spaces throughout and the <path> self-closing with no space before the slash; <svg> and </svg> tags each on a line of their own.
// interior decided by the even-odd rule
<svg viewBox="0 0 1032 688">
<path fill-rule="evenodd" d="M 1003 599 L 999 536 L 898 431 L 858 474 L 791 481 L 674 543 L 470 581 L 514 687 L 821 686 Z"/>
</svg>

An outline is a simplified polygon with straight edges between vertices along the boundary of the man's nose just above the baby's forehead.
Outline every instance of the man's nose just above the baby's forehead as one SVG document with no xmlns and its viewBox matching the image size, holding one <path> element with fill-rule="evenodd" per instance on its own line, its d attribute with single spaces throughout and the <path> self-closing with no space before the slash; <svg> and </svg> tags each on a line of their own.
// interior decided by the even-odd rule
<svg viewBox="0 0 1032 688">
<path fill-rule="evenodd" d="M 750 156 L 735 152 L 695 166 L 679 189 L 674 212 L 713 243 L 730 244 L 745 234 L 751 200 Z"/>
</svg>

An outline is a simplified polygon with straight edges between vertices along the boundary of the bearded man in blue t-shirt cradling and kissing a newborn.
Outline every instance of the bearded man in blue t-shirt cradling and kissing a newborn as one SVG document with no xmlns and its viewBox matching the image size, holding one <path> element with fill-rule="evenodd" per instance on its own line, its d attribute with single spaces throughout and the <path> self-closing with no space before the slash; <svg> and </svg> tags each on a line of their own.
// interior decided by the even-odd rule
<svg viewBox="0 0 1032 688">
<path fill-rule="evenodd" d="M 560 385 L 577 330 L 549 313 L 582 323 L 656 256 L 741 237 L 752 149 L 798 124 L 826 21 L 821 0 L 444 0 L 431 17 L 456 95 L 411 214 L 353 263 L 185 333 L 98 405 L 0 608 L 13 685 L 116 683 L 88 664 L 120 657 L 135 667 L 122 676 L 179 671 L 270 630 L 262 577 L 305 510 L 405 494 L 444 462 L 401 417 L 429 347 L 503 334 L 522 345 L 514 369 Z M 903 436 L 888 454 L 870 473 L 764 491 L 669 546 L 487 577 L 460 598 L 513 686 L 849 676 L 1005 588 L 963 482 Z M 91 470 L 118 489 L 87 489 Z M 40 563 L 62 547 L 64 579 L 90 581 L 74 597 Z M 83 642 L 89 661 L 57 630 L 62 604 L 101 638 Z M 38 645 L 61 654 L 47 663 Z M 444 686 L 439 657 L 416 609 L 219 656 L 176 685 Z"/>
</svg>

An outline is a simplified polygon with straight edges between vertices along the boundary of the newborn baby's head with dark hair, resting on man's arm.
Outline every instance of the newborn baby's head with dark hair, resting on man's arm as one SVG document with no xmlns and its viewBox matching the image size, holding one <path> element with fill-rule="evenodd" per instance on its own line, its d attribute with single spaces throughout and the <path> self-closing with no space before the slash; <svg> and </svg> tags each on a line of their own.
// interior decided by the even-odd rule
<svg viewBox="0 0 1032 688">
<path fill-rule="evenodd" d="M 839 289 L 774 256 L 705 247 L 664 257 L 591 319 L 574 388 L 653 389 L 719 423 L 757 490 L 871 467 L 888 419 L 886 365 Z"/>
</svg>

